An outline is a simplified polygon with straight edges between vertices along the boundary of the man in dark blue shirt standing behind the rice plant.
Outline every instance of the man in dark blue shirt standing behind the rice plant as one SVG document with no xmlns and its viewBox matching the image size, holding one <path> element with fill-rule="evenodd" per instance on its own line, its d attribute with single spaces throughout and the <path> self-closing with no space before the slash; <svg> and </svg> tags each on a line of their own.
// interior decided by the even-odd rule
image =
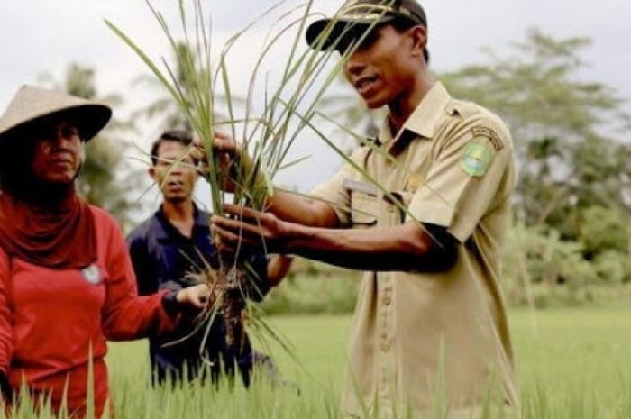
<svg viewBox="0 0 631 419">
<path fill-rule="evenodd" d="M 198 209 L 192 197 L 198 174 L 197 161 L 187 155 L 191 141 L 188 132 L 168 131 L 163 132 L 151 148 L 150 175 L 160 187 L 163 202 L 160 209 L 127 238 L 138 292 L 143 296 L 159 289 L 187 287 L 196 280 L 191 273 L 208 267 L 216 268 L 215 247 L 208 226 L 209 214 Z M 250 262 L 258 275 L 252 278 L 253 287 L 249 296 L 261 300 L 270 289 L 268 260 L 265 255 L 259 254 Z M 276 269 L 272 276 L 279 280 L 279 270 Z M 235 353 L 225 342 L 221 317 L 215 317 L 202 351 L 206 325 L 198 327 L 198 314 L 184 313 L 174 332 L 150 338 L 152 382 L 190 380 L 206 371 L 216 382 L 222 373 L 233 376 L 236 366 L 243 383 L 249 385 L 254 360 L 258 358 L 270 362 L 269 358 L 252 350 L 247 335 L 240 350 Z M 207 369 L 203 360 L 210 361 Z"/>
</svg>

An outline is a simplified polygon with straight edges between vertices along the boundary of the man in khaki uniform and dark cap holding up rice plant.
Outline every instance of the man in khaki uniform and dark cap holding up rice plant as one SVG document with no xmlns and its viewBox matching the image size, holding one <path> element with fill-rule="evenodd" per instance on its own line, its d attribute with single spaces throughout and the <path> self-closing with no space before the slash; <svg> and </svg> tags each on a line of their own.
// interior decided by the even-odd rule
<svg viewBox="0 0 631 419">
<path fill-rule="evenodd" d="M 415 0 L 350 1 L 313 23 L 309 45 L 352 48 L 345 76 L 366 105 L 389 106 L 378 138 L 315 188 L 320 199 L 276 191 L 265 214 L 226 207 L 246 223 L 213 218 L 227 249 L 262 234 L 271 251 L 368 271 L 350 337 L 348 417 L 366 407 L 425 417 L 437 396 L 450 417 L 471 417 L 497 387 L 518 406 L 499 286 L 513 144 L 497 116 L 431 80 L 426 27 Z"/>
</svg>

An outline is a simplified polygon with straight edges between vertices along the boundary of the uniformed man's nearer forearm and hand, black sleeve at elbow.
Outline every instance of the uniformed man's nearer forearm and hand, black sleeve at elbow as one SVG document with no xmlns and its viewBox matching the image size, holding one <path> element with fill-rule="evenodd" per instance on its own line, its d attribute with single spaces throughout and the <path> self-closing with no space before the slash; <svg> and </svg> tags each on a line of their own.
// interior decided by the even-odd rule
<svg viewBox="0 0 631 419">
<path fill-rule="evenodd" d="M 368 230 L 330 229 L 289 223 L 275 214 L 225 206 L 242 221 L 213 216 L 213 230 L 224 251 L 261 246 L 333 265 L 364 270 L 440 271 L 451 268 L 458 241 L 444 227 L 416 222 Z"/>
</svg>

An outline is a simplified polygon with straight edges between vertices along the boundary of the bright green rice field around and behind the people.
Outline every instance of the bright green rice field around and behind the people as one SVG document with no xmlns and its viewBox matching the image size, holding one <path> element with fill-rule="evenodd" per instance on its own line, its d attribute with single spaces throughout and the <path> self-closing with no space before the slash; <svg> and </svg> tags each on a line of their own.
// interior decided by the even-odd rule
<svg viewBox="0 0 631 419">
<path fill-rule="evenodd" d="M 510 314 L 525 418 L 631 418 L 631 307 Z M 350 318 L 275 317 L 299 362 L 274 356 L 299 384 L 217 392 L 148 390 L 144 342 L 113 344 L 109 355 L 117 418 L 339 417 L 337 404 Z"/>
</svg>

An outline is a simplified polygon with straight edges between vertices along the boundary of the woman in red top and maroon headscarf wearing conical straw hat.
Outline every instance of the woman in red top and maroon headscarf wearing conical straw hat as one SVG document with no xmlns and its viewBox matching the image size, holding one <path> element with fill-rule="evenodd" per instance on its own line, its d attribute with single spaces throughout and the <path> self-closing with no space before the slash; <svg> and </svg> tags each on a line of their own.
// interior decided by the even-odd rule
<svg viewBox="0 0 631 419">
<path fill-rule="evenodd" d="M 114 218 L 75 190 L 84 146 L 109 107 L 21 87 L 0 117 L 0 381 L 26 386 L 59 410 L 96 416 L 108 398 L 105 340 L 169 330 L 180 305 L 203 305 L 206 286 L 139 297 Z M 92 407 L 90 406 L 89 409 Z"/>
</svg>

